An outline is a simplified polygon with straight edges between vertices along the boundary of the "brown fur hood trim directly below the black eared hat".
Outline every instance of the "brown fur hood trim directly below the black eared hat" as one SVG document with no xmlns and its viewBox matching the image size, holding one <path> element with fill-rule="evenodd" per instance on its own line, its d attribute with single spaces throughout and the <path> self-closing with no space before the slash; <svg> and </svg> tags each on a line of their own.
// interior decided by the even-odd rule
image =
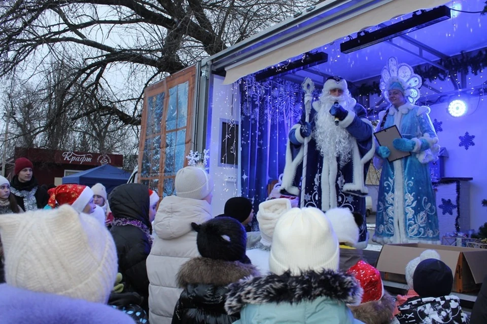
<svg viewBox="0 0 487 324">
<path fill-rule="evenodd" d="M 190 259 L 181 266 L 178 272 L 178 286 L 181 288 L 191 284 L 227 286 L 242 278 L 259 274 L 252 264 L 198 257 Z"/>
</svg>

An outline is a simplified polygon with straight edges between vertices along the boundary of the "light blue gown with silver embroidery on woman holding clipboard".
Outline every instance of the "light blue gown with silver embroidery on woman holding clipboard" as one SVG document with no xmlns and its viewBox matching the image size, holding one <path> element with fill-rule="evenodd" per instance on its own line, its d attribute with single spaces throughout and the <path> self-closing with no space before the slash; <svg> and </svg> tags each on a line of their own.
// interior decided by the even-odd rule
<svg viewBox="0 0 487 324">
<path fill-rule="evenodd" d="M 439 244 L 436 200 L 428 163 L 438 158 L 440 147 L 429 112 L 429 107 L 406 103 L 379 113 L 376 131 L 396 125 L 403 138 L 416 142 L 410 156 L 392 163 L 374 157 L 374 166 L 382 168 L 373 236 L 380 244 Z M 386 113 L 385 124 L 380 128 Z"/>
</svg>

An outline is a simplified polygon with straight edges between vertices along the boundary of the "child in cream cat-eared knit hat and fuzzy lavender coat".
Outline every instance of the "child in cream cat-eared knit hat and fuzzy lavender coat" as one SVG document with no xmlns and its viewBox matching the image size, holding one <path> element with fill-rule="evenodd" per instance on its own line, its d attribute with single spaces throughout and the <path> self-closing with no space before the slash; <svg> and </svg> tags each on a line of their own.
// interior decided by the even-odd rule
<svg viewBox="0 0 487 324">
<path fill-rule="evenodd" d="M 110 232 L 71 206 L 0 217 L 6 323 L 130 323 L 107 305 L 117 273 Z"/>
</svg>

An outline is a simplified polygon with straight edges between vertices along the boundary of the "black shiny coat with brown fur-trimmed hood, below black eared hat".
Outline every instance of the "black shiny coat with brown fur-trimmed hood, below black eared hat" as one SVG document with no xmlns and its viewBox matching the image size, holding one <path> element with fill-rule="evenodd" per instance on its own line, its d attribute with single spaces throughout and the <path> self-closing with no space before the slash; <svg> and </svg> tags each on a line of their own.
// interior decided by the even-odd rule
<svg viewBox="0 0 487 324">
<path fill-rule="evenodd" d="M 230 324 L 240 316 L 225 311 L 227 286 L 239 279 L 258 275 L 250 264 L 193 258 L 178 272 L 178 285 L 184 288 L 172 315 L 172 324 Z"/>
</svg>

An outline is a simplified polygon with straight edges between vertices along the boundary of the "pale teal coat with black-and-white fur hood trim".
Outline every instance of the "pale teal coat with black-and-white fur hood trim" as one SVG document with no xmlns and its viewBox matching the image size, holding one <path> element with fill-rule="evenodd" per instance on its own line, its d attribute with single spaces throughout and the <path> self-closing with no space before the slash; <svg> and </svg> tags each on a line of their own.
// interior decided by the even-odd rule
<svg viewBox="0 0 487 324">
<path fill-rule="evenodd" d="M 362 323 L 346 306 L 360 304 L 362 288 L 344 272 L 268 274 L 240 280 L 229 289 L 225 309 L 240 313 L 234 324 Z"/>
</svg>

